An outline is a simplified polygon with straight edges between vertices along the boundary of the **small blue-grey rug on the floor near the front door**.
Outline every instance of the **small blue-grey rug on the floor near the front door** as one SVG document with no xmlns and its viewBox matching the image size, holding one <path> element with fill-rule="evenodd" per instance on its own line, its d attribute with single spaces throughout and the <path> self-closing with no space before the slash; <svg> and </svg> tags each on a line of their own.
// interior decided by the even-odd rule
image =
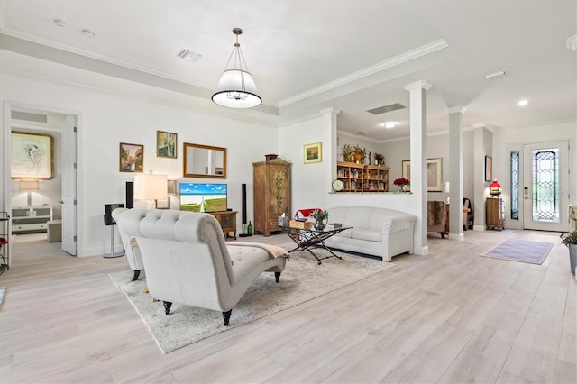
<svg viewBox="0 0 577 384">
<path fill-rule="evenodd" d="M 543 264 L 547 254 L 553 248 L 551 242 L 527 242 L 525 240 L 507 240 L 483 256 L 510 261 Z"/>
</svg>

